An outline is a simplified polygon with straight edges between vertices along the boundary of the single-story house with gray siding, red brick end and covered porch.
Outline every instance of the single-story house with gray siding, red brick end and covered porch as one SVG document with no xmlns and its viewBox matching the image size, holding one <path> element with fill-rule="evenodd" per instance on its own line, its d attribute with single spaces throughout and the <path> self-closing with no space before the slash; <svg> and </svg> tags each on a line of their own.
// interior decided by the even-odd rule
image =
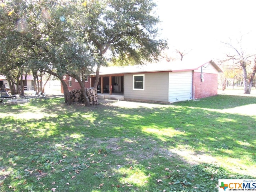
<svg viewBox="0 0 256 192">
<path fill-rule="evenodd" d="M 220 72 L 222 69 L 213 60 L 206 63 L 162 60 L 145 65 L 102 67 L 98 90 L 101 94 L 122 94 L 126 100 L 198 99 L 217 95 Z M 72 78 L 68 77 L 68 81 L 70 90 L 74 89 Z M 92 87 L 94 81 L 95 74 L 91 74 L 86 87 Z"/>
</svg>

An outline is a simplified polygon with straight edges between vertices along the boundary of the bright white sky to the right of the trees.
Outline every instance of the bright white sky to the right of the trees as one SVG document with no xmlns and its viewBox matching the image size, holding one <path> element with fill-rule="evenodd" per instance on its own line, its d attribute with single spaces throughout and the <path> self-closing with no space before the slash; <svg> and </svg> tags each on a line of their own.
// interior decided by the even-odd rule
<svg viewBox="0 0 256 192">
<path fill-rule="evenodd" d="M 227 50 L 223 43 L 243 46 L 256 52 L 256 16 L 253 0 L 154 0 L 161 22 L 161 36 L 187 56 L 215 59 Z M 231 39 L 231 41 L 230 41 Z M 184 56 L 185 58 L 186 56 Z"/>
</svg>

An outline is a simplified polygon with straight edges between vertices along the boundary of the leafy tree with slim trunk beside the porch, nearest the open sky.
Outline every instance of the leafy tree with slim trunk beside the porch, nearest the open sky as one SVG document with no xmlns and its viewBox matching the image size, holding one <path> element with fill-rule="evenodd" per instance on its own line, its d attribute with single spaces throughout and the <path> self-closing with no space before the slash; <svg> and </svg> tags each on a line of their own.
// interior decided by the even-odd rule
<svg viewBox="0 0 256 192">
<path fill-rule="evenodd" d="M 142 64 L 157 59 L 166 48 L 166 41 L 156 38 L 160 20 L 154 16 L 155 6 L 152 0 L 107 0 L 90 1 L 80 9 L 85 42 L 100 58 L 94 87 L 108 58 L 124 65 Z"/>
</svg>

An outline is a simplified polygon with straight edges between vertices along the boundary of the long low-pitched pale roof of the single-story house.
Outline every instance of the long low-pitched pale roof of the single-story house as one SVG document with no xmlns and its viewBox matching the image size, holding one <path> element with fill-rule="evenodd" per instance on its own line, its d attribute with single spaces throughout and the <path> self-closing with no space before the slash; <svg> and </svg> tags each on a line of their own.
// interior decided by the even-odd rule
<svg viewBox="0 0 256 192">
<path fill-rule="evenodd" d="M 166 60 L 161 60 L 159 62 L 144 64 L 144 65 L 134 65 L 134 66 L 110 66 L 101 67 L 100 75 L 109 74 L 128 74 L 128 73 L 141 73 L 141 72 L 179 72 L 179 71 L 191 71 L 197 70 L 206 64 L 212 64 L 218 72 L 223 72 L 222 69 L 213 61 L 210 60 L 206 63 L 198 62 L 182 62 L 174 61 L 168 62 Z"/>
</svg>

